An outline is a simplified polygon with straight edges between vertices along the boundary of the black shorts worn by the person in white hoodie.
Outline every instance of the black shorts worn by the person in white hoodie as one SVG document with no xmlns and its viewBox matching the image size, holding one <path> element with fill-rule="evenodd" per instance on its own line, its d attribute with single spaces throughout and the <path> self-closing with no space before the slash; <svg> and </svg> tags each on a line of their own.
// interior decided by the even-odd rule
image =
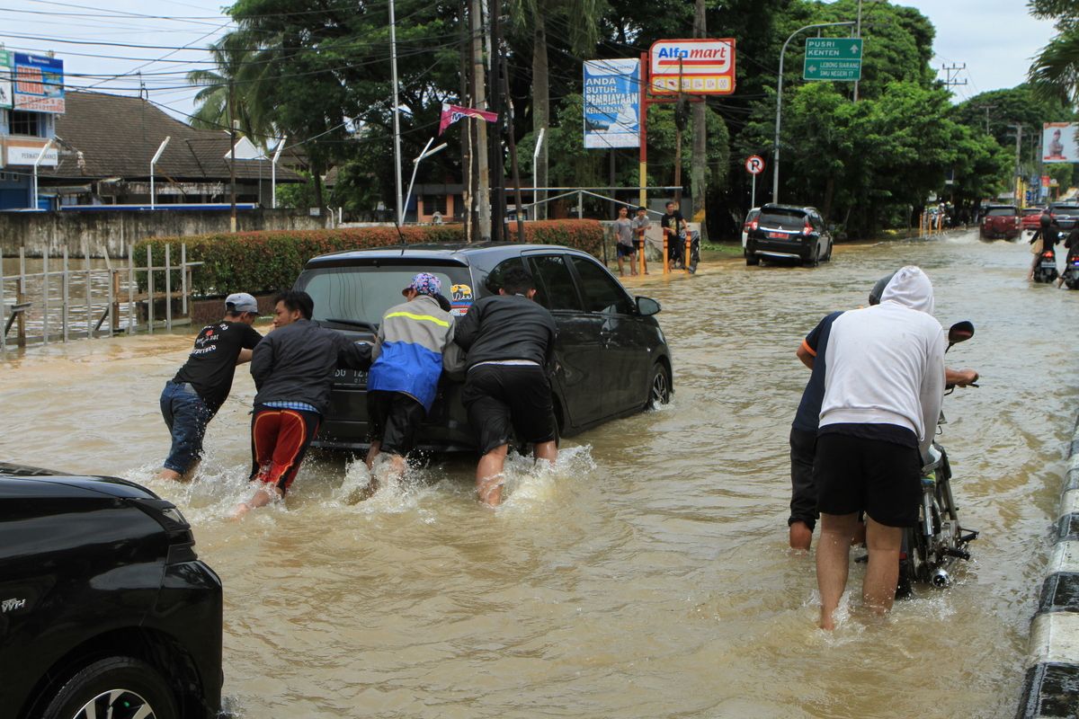
<svg viewBox="0 0 1079 719">
<path fill-rule="evenodd" d="M 825 433 L 814 461 L 817 509 L 822 514 L 864 510 L 889 527 L 913 527 L 921 503 L 921 456 L 917 447 Z"/>
</svg>

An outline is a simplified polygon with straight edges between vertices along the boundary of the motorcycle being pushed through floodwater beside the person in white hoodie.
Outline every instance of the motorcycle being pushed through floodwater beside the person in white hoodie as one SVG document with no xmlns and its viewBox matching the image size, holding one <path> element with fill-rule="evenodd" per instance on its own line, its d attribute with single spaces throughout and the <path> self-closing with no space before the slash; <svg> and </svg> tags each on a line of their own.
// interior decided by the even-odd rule
<svg viewBox="0 0 1079 719">
<path fill-rule="evenodd" d="M 974 336 L 969 321 L 956 322 L 948 330 L 948 346 Z M 946 351 L 946 350 L 945 350 Z M 976 387 L 972 384 L 971 387 Z M 951 393 L 955 387 L 948 387 Z M 945 423 L 944 414 L 938 425 Z M 903 530 L 899 561 L 899 586 L 896 596 L 911 593 L 914 582 L 945 587 L 952 583 L 950 569 L 956 559 L 970 559 L 967 544 L 978 539 L 978 531 L 959 524 L 958 508 L 952 494 L 952 467 L 947 453 L 938 441 L 929 450 L 929 464 L 921 470 L 921 507 L 918 523 Z"/>
</svg>

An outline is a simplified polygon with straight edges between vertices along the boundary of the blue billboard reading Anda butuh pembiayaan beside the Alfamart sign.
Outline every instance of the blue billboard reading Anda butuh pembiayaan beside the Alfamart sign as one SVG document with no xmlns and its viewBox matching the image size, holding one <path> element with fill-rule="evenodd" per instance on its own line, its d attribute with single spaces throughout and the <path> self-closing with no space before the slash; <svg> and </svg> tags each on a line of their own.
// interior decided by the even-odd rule
<svg viewBox="0 0 1079 719">
<path fill-rule="evenodd" d="M 641 147 L 641 61 L 585 61 L 585 148 Z"/>
</svg>

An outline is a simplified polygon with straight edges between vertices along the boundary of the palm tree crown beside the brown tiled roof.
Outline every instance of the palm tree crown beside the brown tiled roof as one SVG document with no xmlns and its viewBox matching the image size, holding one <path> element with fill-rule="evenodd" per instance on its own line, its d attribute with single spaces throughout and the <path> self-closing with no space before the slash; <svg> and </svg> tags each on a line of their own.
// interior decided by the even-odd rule
<svg viewBox="0 0 1079 719">
<path fill-rule="evenodd" d="M 243 31 L 226 34 L 209 51 L 217 69 L 188 73 L 188 82 L 202 87 L 194 98 L 197 109 L 191 124 L 229 129 L 235 120 L 240 133 L 264 149 L 275 136 L 271 108 L 262 101 L 271 66 L 269 51 L 256 50 L 250 34 Z"/>
</svg>

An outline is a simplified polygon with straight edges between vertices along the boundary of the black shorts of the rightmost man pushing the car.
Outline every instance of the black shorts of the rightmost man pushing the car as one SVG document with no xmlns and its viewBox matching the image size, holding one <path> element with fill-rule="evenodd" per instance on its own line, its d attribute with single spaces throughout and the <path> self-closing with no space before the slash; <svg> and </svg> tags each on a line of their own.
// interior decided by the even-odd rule
<svg viewBox="0 0 1079 719">
<path fill-rule="evenodd" d="M 547 374 L 534 364 L 479 364 L 461 396 L 481 454 L 511 439 L 538 444 L 555 439 Z"/>
</svg>

